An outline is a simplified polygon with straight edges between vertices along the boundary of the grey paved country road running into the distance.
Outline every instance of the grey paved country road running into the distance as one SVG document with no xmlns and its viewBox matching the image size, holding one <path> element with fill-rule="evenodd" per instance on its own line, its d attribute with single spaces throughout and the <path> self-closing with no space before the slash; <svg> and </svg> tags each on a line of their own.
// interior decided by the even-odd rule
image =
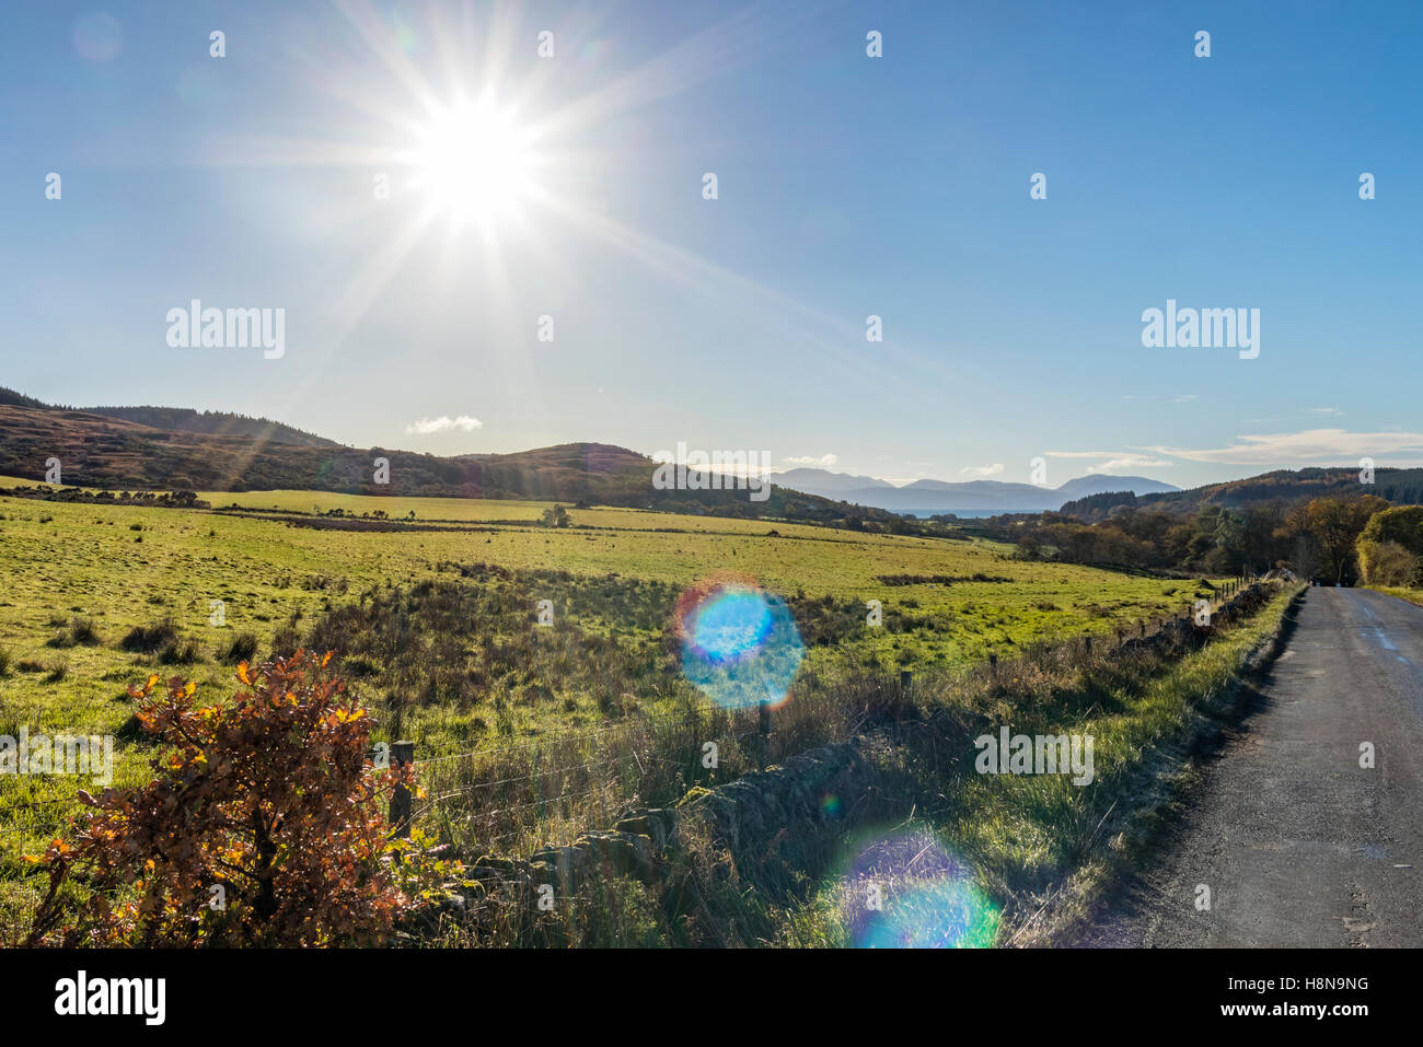
<svg viewBox="0 0 1423 1047">
<path fill-rule="evenodd" d="M 1423 945 L 1423 607 L 1311 589 L 1247 701 L 1081 943 Z M 1373 770 L 1359 767 L 1365 741 Z"/>
</svg>

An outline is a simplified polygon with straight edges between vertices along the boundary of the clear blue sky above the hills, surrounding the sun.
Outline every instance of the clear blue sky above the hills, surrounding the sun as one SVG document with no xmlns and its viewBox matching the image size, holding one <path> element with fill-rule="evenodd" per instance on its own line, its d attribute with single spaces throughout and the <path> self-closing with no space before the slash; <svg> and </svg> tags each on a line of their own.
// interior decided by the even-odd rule
<svg viewBox="0 0 1423 1047">
<path fill-rule="evenodd" d="M 6 20 L 0 384 L 46 400 L 437 454 L 682 441 L 894 479 L 1027 481 L 1039 455 L 1052 485 L 1423 464 L 1423 4 Z M 431 111 L 474 95 L 536 182 L 484 225 L 408 159 Z M 191 299 L 285 309 L 285 354 L 171 347 Z M 1259 309 L 1258 358 L 1144 347 L 1167 299 Z M 480 425 L 418 431 L 461 417 Z"/>
</svg>

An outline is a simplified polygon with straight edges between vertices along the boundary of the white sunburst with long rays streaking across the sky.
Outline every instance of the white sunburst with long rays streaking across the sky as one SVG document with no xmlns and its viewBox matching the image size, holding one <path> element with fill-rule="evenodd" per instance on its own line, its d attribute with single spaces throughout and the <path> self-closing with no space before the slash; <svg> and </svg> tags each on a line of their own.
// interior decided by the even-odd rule
<svg viewBox="0 0 1423 1047">
<path fill-rule="evenodd" d="M 334 61 L 313 63 L 313 77 L 332 97 L 350 102 L 387 128 L 381 144 L 319 138 L 225 139 L 211 156 L 215 164 L 246 166 L 353 166 L 391 172 L 393 199 L 398 198 L 408 208 L 407 226 L 351 276 L 334 307 L 344 319 L 326 341 L 322 366 L 339 351 L 418 240 L 433 229 L 445 233 L 444 262 L 437 273 L 455 273 L 465 263 L 470 246 L 462 240 L 467 235 L 472 238 L 470 243 L 480 250 L 480 279 L 492 302 L 512 300 L 515 287 L 505 253 L 514 243 L 542 259 L 545 265 L 539 272 L 558 273 L 559 286 L 571 286 L 576 277 L 562 265 L 559 252 L 548 248 L 552 239 L 548 233 L 561 222 L 592 243 L 610 246 L 757 323 L 764 320 L 793 330 L 793 337 L 814 346 L 830 368 L 844 377 L 874 378 L 881 390 L 915 394 L 922 384 L 902 377 L 915 364 L 942 374 L 945 381 L 965 384 L 963 373 L 946 367 L 942 353 L 918 350 L 902 339 L 867 347 L 858 316 L 810 307 L 578 199 L 589 178 L 596 179 L 618 162 L 613 151 L 578 144 L 588 127 L 724 75 L 777 46 L 776 41 L 784 40 L 808 17 L 805 13 L 743 10 L 602 90 L 551 111 L 539 101 L 544 67 L 534 64 L 522 83 L 512 83 L 509 77 L 507 55 L 517 44 L 517 26 L 512 18 L 502 17 L 502 9 L 495 10 L 482 34 L 477 31 L 471 3 L 462 4 L 455 16 L 437 14 L 434 21 L 427 21 L 421 30 L 434 41 L 435 68 L 421 71 L 401 50 L 403 41 L 418 46 L 420 37 L 411 36 L 414 28 L 401 26 L 393 31 L 369 0 L 337 0 L 336 6 L 397 81 L 396 98 L 407 98 L 401 105 L 376 91 L 359 90 L 354 75 Z M 532 50 L 534 41 L 528 44 Z M 481 53 L 482 63 L 470 61 Z M 461 75 L 461 68 L 471 65 L 481 70 L 475 80 Z M 360 212 L 353 211 L 354 218 L 360 218 Z M 544 229 L 534 232 L 535 223 Z M 435 279 L 440 282 L 438 276 Z M 509 356 L 519 358 L 517 353 Z"/>
</svg>

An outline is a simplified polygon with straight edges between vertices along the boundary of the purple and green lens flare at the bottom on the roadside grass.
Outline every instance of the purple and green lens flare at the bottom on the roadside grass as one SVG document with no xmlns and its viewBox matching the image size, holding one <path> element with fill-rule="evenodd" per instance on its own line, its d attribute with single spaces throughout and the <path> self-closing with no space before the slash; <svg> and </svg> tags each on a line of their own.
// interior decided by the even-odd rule
<svg viewBox="0 0 1423 1047">
<path fill-rule="evenodd" d="M 972 866 L 928 831 L 861 846 L 848 883 L 850 936 L 859 949 L 988 949 L 998 937 L 1000 908 Z"/>
</svg>

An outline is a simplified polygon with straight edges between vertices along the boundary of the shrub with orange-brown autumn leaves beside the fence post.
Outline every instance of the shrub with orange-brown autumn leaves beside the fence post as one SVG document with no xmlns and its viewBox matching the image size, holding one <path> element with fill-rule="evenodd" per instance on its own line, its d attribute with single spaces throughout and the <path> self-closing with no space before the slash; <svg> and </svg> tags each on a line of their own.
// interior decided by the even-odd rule
<svg viewBox="0 0 1423 1047">
<path fill-rule="evenodd" d="M 330 654 L 249 669 L 205 706 L 179 679 L 131 687 L 161 743 L 137 790 L 80 792 L 91 809 L 41 862 L 50 889 L 30 945 L 376 945 L 411 906 L 384 817 L 413 768 L 367 760 L 370 717 Z M 387 861 L 381 861 L 387 858 Z M 87 885 L 74 892 L 68 882 Z M 87 898 L 75 899 L 77 893 Z"/>
</svg>

